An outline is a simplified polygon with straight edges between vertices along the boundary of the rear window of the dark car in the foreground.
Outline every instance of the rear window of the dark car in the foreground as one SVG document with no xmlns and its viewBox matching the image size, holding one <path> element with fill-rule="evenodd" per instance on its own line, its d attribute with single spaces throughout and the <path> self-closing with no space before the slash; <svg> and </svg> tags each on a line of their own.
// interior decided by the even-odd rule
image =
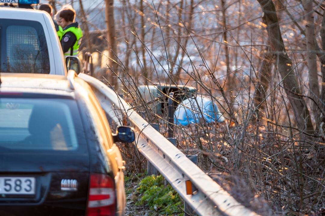
<svg viewBox="0 0 325 216">
<path fill-rule="evenodd" d="M 0 148 L 79 151 L 83 140 L 73 99 L 0 98 Z"/>
</svg>

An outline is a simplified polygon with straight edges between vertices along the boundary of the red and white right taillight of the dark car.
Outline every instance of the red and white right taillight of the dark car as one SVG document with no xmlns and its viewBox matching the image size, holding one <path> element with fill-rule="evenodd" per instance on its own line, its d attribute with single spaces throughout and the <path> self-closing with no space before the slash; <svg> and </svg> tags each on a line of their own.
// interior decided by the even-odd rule
<svg viewBox="0 0 325 216">
<path fill-rule="evenodd" d="M 115 188 L 113 179 L 105 174 L 90 174 L 87 216 L 115 215 Z"/>
</svg>

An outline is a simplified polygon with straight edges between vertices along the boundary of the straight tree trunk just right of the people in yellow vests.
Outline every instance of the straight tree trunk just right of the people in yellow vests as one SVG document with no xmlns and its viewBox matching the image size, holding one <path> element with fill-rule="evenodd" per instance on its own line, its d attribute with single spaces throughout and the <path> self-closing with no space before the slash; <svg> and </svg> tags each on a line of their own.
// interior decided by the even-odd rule
<svg viewBox="0 0 325 216">
<path fill-rule="evenodd" d="M 118 74 L 118 64 L 115 62 L 116 53 L 116 43 L 115 43 L 115 24 L 114 24 L 114 0 L 105 0 L 105 18 L 106 18 L 106 28 L 107 28 L 107 41 L 109 44 L 109 71 L 106 72 L 110 84 L 114 87 L 115 90 L 118 89 L 117 86 L 118 78 L 115 74 Z M 115 54 L 114 54 L 115 53 Z M 115 74 L 113 73 L 115 72 Z"/>
</svg>

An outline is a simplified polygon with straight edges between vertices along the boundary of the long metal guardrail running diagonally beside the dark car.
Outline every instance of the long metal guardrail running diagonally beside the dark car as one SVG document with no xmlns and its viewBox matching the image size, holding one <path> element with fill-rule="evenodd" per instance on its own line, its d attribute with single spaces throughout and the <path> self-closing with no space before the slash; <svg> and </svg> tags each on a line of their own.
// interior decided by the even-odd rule
<svg viewBox="0 0 325 216">
<path fill-rule="evenodd" d="M 151 127 L 112 89 L 89 75 L 79 74 L 79 77 L 92 87 L 110 120 L 121 124 L 120 119 L 123 119 L 123 112 L 128 116 L 135 129 L 136 146 L 139 152 L 157 168 L 184 201 L 195 210 L 196 214 L 201 216 L 258 215 L 230 196 L 227 191 L 192 163 L 185 154 Z M 192 195 L 186 193 L 186 180 L 190 180 L 197 188 Z"/>
</svg>

